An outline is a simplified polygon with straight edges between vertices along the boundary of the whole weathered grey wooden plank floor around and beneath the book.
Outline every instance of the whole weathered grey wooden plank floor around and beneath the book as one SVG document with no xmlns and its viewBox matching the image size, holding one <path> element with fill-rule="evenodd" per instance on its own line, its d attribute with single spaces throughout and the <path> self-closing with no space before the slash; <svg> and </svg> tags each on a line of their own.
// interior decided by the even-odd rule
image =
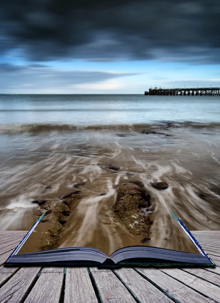
<svg viewBox="0 0 220 303">
<path fill-rule="evenodd" d="M 0 302 L 220 302 L 220 231 L 192 233 L 215 268 L 7 268 L 26 232 L 0 232 Z"/>
</svg>

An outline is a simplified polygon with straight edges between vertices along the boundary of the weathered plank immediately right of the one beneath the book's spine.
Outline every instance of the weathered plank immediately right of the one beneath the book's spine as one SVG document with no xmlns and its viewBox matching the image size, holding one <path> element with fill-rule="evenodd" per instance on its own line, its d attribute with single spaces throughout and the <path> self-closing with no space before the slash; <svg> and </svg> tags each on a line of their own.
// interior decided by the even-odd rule
<svg viewBox="0 0 220 303">
<path fill-rule="evenodd" d="M 162 291 L 140 276 L 132 268 L 121 268 L 114 272 L 141 302 L 173 302 Z"/>
</svg>

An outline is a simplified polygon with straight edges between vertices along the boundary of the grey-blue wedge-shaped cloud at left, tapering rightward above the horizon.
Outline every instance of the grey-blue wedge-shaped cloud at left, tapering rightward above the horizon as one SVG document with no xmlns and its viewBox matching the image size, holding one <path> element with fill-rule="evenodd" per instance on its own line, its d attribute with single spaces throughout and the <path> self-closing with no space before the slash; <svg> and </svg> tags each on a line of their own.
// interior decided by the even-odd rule
<svg viewBox="0 0 220 303">
<path fill-rule="evenodd" d="M 16 72 L 15 72 L 16 71 Z M 119 77 L 133 76 L 140 73 L 115 73 L 105 71 L 77 71 L 54 69 L 43 65 L 15 66 L 0 64 L 0 90 L 29 88 L 50 90 L 77 87 L 79 84 L 99 83 Z"/>
</svg>

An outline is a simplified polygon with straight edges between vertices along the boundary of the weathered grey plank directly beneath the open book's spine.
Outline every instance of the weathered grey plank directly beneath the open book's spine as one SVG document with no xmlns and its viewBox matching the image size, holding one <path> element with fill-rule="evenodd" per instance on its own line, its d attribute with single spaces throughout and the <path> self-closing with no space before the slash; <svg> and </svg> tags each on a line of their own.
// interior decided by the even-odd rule
<svg viewBox="0 0 220 303">
<path fill-rule="evenodd" d="M 111 272 L 93 272 L 97 288 L 103 303 L 134 303 L 135 300 L 121 283 L 121 281 Z"/>
</svg>

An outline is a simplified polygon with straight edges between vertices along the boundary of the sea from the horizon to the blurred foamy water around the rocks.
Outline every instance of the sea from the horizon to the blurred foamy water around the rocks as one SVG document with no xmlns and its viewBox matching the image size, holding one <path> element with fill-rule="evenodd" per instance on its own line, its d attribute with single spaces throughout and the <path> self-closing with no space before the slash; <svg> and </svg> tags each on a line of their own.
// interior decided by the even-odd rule
<svg viewBox="0 0 220 303">
<path fill-rule="evenodd" d="M 33 200 L 79 186 L 73 244 L 103 227 L 113 250 L 111 204 L 130 181 L 151 193 L 159 241 L 171 212 L 191 230 L 219 230 L 220 96 L 2 94 L 0 172 L 2 231 L 29 229 Z M 156 181 L 169 187 L 155 189 Z"/>
</svg>

